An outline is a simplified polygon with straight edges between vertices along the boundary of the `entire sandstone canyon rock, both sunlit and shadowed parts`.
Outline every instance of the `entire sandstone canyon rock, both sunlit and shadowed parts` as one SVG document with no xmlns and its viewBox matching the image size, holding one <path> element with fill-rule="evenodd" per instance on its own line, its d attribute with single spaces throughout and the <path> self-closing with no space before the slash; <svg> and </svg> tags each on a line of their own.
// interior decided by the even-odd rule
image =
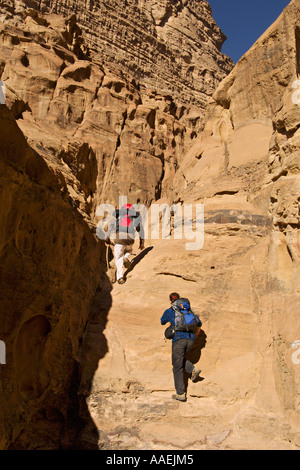
<svg viewBox="0 0 300 470">
<path fill-rule="evenodd" d="M 299 0 L 234 68 L 205 0 L 0 12 L 2 446 L 299 448 Z M 149 240 L 112 288 L 95 214 L 119 195 L 203 203 L 203 248 Z M 203 321 L 180 404 L 159 324 L 171 291 Z"/>
</svg>

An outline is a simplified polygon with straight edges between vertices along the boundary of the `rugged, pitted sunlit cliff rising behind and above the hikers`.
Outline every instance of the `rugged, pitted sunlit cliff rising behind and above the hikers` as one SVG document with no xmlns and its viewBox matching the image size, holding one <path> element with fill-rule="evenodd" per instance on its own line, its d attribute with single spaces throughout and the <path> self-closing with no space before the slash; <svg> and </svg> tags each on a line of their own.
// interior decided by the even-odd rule
<svg viewBox="0 0 300 470">
<path fill-rule="evenodd" d="M 206 1 L 120 6 L 48 2 L 41 15 L 13 3 L 2 26 L 10 108 L 31 145 L 76 176 L 71 196 L 91 216 L 120 193 L 150 204 L 170 192 L 207 99 L 232 68 Z M 78 24 L 53 11 L 76 11 Z"/>
</svg>

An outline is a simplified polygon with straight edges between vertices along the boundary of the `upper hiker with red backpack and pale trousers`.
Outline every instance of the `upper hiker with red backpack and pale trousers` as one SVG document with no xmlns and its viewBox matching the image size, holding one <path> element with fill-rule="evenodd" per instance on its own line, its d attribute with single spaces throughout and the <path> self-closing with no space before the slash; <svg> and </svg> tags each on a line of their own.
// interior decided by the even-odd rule
<svg viewBox="0 0 300 470">
<path fill-rule="evenodd" d="M 117 281 L 124 284 L 126 278 L 123 269 L 129 268 L 131 261 L 129 256 L 132 253 L 132 247 L 136 232 L 139 234 L 139 249 L 144 249 L 144 230 L 140 213 L 133 209 L 131 204 L 124 204 L 120 210 L 115 210 L 112 214 L 107 229 L 105 243 L 114 245 L 115 265 L 117 269 Z"/>
</svg>

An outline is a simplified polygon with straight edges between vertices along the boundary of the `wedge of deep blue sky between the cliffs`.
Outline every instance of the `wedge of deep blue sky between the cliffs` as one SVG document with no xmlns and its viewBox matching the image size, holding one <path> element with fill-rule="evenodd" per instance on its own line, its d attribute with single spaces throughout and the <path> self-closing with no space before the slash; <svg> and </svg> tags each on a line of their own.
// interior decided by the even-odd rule
<svg viewBox="0 0 300 470">
<path fill-rule="evenodd" d="M 208 0 L 227 36 L 222 52 L 237 62 L 274 23 L 290 0 Z"/>
</svg>

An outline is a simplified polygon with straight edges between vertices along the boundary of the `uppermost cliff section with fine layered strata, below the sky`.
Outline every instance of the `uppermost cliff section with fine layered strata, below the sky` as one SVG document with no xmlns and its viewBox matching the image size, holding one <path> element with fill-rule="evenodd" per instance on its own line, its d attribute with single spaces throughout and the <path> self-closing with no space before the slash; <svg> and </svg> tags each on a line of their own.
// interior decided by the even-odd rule
<svg viewBox="0 0 300 470">
<path fill-rule="evenodd" d="M 232 68 L 206 0 L 24 3 L 43 13 L 75 13 L 95 60 L 198 108 Z"/>
</svg>

